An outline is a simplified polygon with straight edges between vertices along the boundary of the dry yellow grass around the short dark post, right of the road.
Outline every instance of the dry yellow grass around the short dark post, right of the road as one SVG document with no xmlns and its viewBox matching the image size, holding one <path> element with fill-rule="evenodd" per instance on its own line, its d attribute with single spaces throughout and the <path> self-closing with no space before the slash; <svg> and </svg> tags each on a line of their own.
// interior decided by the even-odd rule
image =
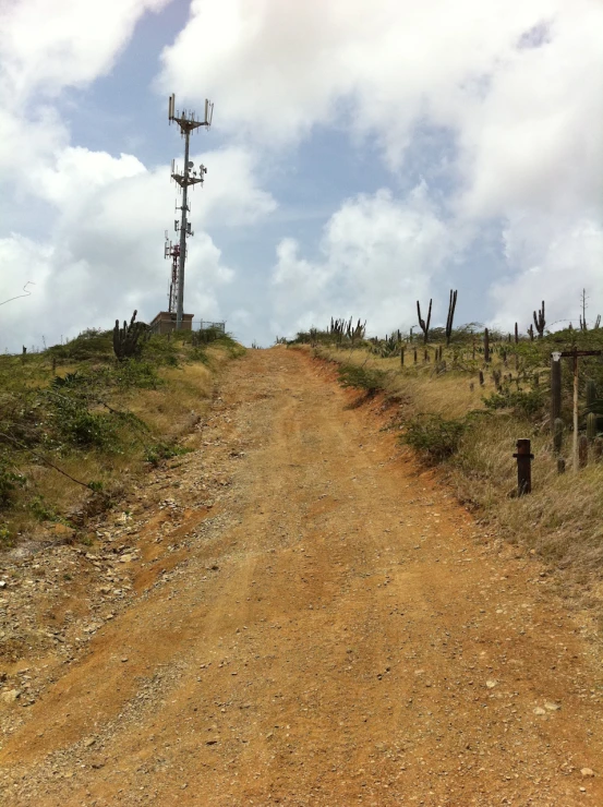
<svg viewBox="0 0 603 807">
<path fill-rule="evenodd" d="M 462 419 L 470 411 L 484 410 L 482 398 L 495 392 L 490 374 L 480 387 L 478 370 L 436 375 L 433 364 L 402 369 L 399 358 L 381 359 L 365 350 L 322 347 L 316 354 L 387 371 L 384 393 L 396 402 L 397 423 L 402 430 L 405 422 L 420 413 Z M 496 359 L 491 366 L 507 372 Z M 535 455 L 532 494 L 520 498 L 516 496 L 517 466 L 512 457 L 519 437 L 532 441 Z M 533 550 L 546 563 L 563 569 L 572 593 L 576 585 L 593 592 L 603 588 L 603 463 L 591 462 L 574 473 L 568 457 L 570 439 L 569 435 L 564 446 L 567 472 L 559 475 L 546 420 L 499 410 L 470 425 L 458 453 L 441 468 L 459 501 L 481 521 L 495 525 L 511 543 Z"/>
</svg>

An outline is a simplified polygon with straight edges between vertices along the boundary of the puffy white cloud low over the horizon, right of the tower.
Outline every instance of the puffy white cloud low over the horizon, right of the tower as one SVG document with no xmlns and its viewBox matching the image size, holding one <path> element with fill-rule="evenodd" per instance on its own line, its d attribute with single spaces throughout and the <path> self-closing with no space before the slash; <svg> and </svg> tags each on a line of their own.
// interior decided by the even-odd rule
<svg viewBox="0 0 603 807">
<path fill-rule="evenodd" d="M 272 328 L 290 335 L 351 315 L 366 317 L 372 333 L 409 327 L 417 299 L 462 246 L 424 184 L 406 202 L 387 190 L 348 200 L 325 227 L 321 260 L 301 258 L 293 239 L 279 243 Z"/>
</svg>

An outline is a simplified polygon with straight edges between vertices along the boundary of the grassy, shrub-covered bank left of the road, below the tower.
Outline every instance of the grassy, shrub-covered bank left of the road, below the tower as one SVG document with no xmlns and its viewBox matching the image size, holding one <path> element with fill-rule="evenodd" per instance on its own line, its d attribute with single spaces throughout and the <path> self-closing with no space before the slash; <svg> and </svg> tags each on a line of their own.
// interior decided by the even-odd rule
<svg viewBox="0 0 603 807">
<path fill-rule="evenodd" d="M 0 357 L 0 549 L 82 525 L 148 468 L 195 447 L 216 373 L 244 352 L 209 336 L 155 336 L 124 362 L 96 330 Z"/>
</svg>

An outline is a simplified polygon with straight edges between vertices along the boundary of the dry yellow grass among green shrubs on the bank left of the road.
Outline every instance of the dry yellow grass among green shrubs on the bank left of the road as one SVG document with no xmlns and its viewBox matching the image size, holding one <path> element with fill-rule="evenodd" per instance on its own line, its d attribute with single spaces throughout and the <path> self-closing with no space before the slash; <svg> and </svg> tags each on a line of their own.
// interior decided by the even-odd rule
<svg viewBox="0 0 603 807">
<path fill-rule="evenodd" d="M 200 433 L 194 426 L 209 408 L 216 375 L 237 351 L 232 346 L 212 346 L 204 351 L 202 360 L 191 361 L 184 348 L 177 366 L 156 368 L 160 381 L 156 388 L 111 387 L 102 395 L 116 410 L 131 412 L 140 419 L 137 423 L 117 421 L 114 446 L 107 449 L 74 446 L 63 448 L 59 456 L 49 455 L 44 448 L 36 449 L 84 484 L 77 484 L 48 465 L 36 461 L 31 453 L 21 454 L 19 472 L 26 478 L 26 485 L 16 492 L 14 506 L 0 514 L 0 544 L 10 545 L 24 535 L 39 535 L 48 520 L 72 520 L 72 514 L 88 508 L 91 498 L 95 498 L 85 486 L 91 482 L 101 491 L 96 494 L 96 499 L 116 501 L 148 471 L 149 458 L 164 456 L 162 447 L 167 446 L 168 451 L 173 450 L 170 446 L 176 446 L 177 450 L 178 446 L 196 447 Z M 4 364 L 7 366 L 2 370 L 4 373 L 8 371 L 13 396 L 19 396 L 20 390 L 48 387 L 55 374 L 64 377 L 82 366 L 63 364 L 52 373 L 50 363 L 43 357 L 32 357 L 25 363 L 7 357 Z M 95 409 L 93 407 L 91 411 Z M 106 412 L 106 408 L 98 407 L 98 413 Z"/>
</svg>

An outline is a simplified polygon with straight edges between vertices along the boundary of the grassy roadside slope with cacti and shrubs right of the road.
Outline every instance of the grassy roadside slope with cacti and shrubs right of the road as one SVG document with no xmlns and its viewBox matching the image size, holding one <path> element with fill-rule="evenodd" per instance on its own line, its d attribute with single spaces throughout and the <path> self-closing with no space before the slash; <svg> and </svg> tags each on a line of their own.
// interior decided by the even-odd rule
<svg viewBox="0 0 603 807">
<path fill-rule="evenodd" d="M 337 363 L 343 385 L 364 390 L 367 397 L 377 392 L 385 396 L 400 442 L 418 453 L 425 465 L 437 466 L 458 499 L 481 522 L 495 525 L 506 540 L 566 570 L 567 581 L 586 587 L 601 599 L 603 462 L 594 457 L 591 444 L 587 467 L 578 473 L 571 470 L 569 365 L 564 368 L 563 385 L 565 474 L 557 473 L 558 454 L 551 435 L 550 354 L 567 349 L 576 338 L 576 333 L 562 334 L 517 348 L 501 340 L 487 363 L 467 342 L 444 347 L 442 358 L 436 358 L 435 346 L 430 346 L 429 362 L 420 345 L 417 363 L 413 347 L 406 345 L 405 366 L 399 350 L 396 356 L 383 357 L 375 345 L 366 342 L 353 349 L 322 344 L 312 350 L 316 357 Z M 603 348 L 603 330 L 578 334 L 578 340 L 580 348 Z M 603 365 L 599 359 L 586 360 L 581 365 L 582 433 L 587 378 L 603 396 Z M 601 402 L 601 398 L 595 401 L 595 410 Z M 516 495 L 517 466 L 512 457 L 519 437 L 532 441 L 535 455 L 533 492 L 520 498 Z"/>
</svg>

